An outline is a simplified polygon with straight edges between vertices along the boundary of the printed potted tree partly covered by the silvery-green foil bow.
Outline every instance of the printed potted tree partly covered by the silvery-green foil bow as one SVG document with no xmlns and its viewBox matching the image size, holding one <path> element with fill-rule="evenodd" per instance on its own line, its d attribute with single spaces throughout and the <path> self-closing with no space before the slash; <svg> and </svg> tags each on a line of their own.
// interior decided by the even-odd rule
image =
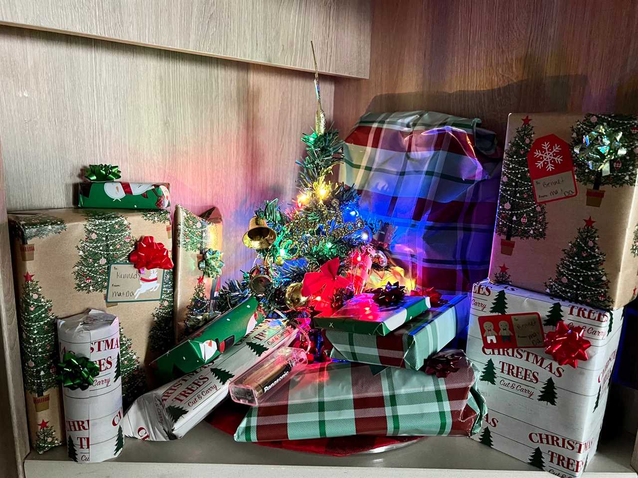
<svg viewBox="0 0 638 478">
<path fill-rule="evenodd" d="M 598 134 L 591 134 L 602 127 Z M 638 121 L 625 115 L 585 115 L 584 119 L 575 122 L 572 127 L 572 149 L 574 150 L 574 173 L 582 184 L 591 184 L 587 190 L 587 205 L 600 207 L 605 191 L 602 185 L 611 187 L 633 186 L 636 182 Z M 618 137 L 617 134 L 621 133 Z M 577 150 L 586 147 L 585 140 L 590 140 L 597 152 L 591 164 L 578 157 Z M 614 143 L 617 143 L 614 145 Z M 625 150 L 618 154 L 619 149 Z M 610 156 L 611 155 L 611 156 Z M 593 159 L 593 158 L 592 158 Z M 605 160 L 609 160 L 607 168 Z"/>
</svg>

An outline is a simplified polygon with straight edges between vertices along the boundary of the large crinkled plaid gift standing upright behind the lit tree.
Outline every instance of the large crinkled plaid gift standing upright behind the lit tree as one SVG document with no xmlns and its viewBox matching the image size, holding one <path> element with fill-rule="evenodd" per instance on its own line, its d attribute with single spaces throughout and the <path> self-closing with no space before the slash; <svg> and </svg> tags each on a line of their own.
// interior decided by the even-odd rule
<svg viewBox="0 0 638 478">
<path fill-rule="evenodd" d="M 346 139 L 339 180 L 360 212 L 392 224 L 390 261 L 417 287 L 470 291 L 487 277 L 501 159 L 479 119 L 367 113 Z"/>
</svg>

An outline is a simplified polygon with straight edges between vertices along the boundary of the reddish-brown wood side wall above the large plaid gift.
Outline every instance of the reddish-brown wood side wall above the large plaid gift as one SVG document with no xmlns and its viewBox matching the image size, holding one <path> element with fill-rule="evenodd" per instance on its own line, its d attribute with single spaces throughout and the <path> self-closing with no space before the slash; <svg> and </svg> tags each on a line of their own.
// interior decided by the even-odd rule
<svg viewBox="0 0 638 478">
<path fill-rule="evenodd" d="M 369 80 L 339 79 L 341 129 L 366 110 L 479 117 L 638 112 L 638 2 L 373 1 Z"/>
</svg>

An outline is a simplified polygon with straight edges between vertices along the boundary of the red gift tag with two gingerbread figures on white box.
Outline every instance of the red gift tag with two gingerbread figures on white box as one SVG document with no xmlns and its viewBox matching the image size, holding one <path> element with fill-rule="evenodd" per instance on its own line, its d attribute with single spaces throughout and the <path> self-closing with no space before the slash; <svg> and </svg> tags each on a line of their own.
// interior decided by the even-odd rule
<svg viewBox="0 0 638 478">
<path fill-rule="evenodd" d="M 485 349 L 534 349 L 543 347 L 545 334 L 538 312 L 484 315 L 479 327 Z"/>
</svg>

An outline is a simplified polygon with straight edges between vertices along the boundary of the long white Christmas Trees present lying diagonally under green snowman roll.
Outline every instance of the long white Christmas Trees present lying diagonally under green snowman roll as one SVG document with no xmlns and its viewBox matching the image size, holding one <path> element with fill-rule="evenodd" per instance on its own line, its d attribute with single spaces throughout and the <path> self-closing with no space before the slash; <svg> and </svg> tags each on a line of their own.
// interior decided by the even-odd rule
<svg viewBox="0 0 638 478">
<path fill-rule="evenodd" d="M 183 437 L 225 400 L 230 379 L 296 335 L 279 320 L 263 321 L 212 363 L 140 396 L 124 416 L 124 435 L 158 441 Z"/>
</svg>

